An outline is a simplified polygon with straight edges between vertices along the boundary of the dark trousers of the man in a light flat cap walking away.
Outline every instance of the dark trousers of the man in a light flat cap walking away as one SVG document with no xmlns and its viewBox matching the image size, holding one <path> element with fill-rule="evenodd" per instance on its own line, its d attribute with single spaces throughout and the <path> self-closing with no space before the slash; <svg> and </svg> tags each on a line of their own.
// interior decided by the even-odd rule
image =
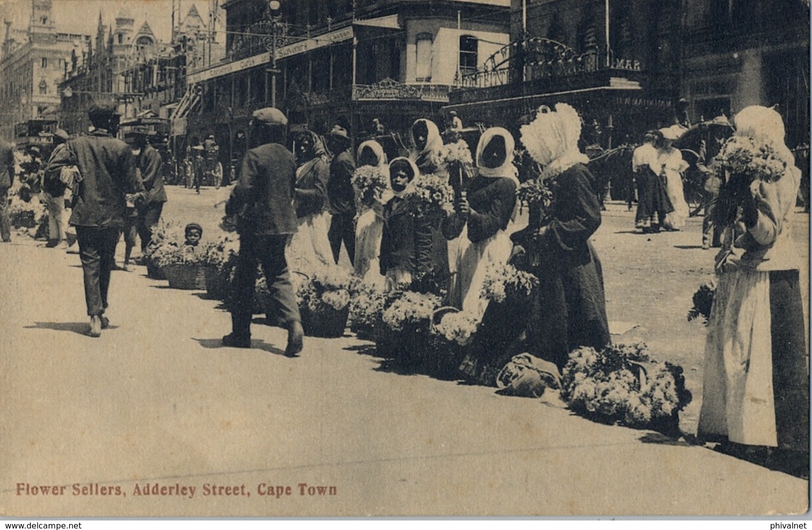
<svg viewBox="0 0 812 530">
<path fill-rule="evenodd" d="M 231 324 L 235 337 L 251 337 L 254 283 L 257 263 L 262 266 L 270 291 L 268 324 L 287 328 L 300 322 L 299 304 L 287 271 L 285 247 L 287 235 L 255 236 L 240 234 L 240 256 L 234 273 L 234 298 L 231 300 Z"/>
</svg>

